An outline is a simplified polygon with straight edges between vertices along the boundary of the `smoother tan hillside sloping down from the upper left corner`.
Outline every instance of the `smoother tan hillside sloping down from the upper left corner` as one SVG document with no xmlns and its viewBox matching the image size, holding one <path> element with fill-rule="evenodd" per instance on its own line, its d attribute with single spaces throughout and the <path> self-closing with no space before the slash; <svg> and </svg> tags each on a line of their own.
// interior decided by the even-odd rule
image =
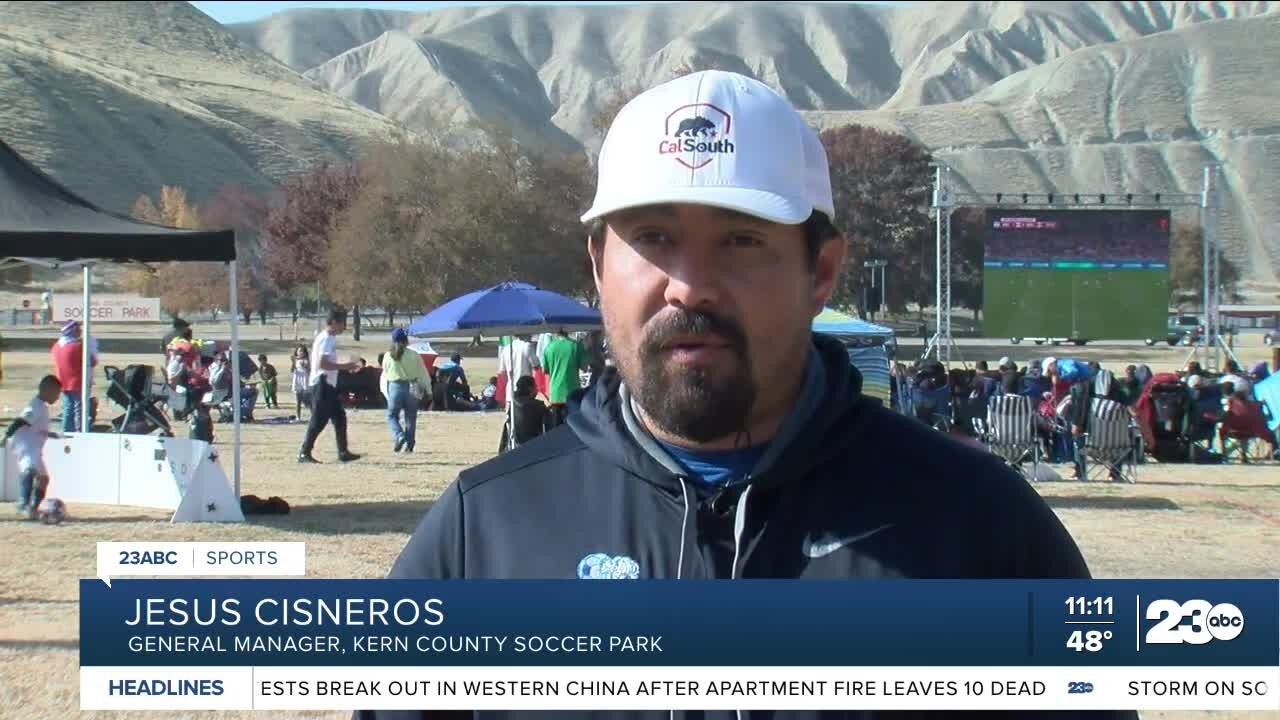
<svg viewBox="0 0 1280 720">
<path fill-rule="evenodd" d="M 0 3 L 0 136 L 74 191 L 128 210 L 197 201 L 347 158 L 397 124 L 315 87 L 187 3 Z"/>
</svg>

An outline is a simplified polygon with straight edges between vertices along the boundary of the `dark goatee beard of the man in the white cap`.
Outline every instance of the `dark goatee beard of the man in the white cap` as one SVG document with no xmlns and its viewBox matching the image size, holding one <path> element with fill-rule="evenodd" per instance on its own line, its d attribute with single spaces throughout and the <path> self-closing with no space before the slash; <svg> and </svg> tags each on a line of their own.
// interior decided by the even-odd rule
<svg viewBox="0 0 1280 720">
<path fill-rule="evenodd" d="M 662 346 L 676 336 L 718 336 L 737 357 L 735 369 L 717 374 L 667 363 Z M 710 442 L 746 429 L 748 414 L 755 404 L 755 383 L 746 333 L 737 323 L 712 313 L 676 310 L 645 328 L 635 357 L 639 366 L 618 360 L 618 370 L 636 402 L 663 430 L 694 442 Z"/>
</svg>

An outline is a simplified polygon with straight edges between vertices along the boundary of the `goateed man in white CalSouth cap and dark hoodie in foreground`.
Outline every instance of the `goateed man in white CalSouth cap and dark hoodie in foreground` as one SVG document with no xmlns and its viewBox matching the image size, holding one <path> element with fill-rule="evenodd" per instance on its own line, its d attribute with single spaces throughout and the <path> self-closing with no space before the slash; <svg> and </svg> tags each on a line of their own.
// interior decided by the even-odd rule
<svg viewBox="0 0 1280 720">
<path fill-rule="evenodd" d="M 582 217 L 617 370 L 465 470 L 392 577 L 1087 577 L 1025 480 L 861 396 L 812 333 L 835 218 L 818 135 L 764 83 L 701 72 L 628 102 Z"/>
</svg>

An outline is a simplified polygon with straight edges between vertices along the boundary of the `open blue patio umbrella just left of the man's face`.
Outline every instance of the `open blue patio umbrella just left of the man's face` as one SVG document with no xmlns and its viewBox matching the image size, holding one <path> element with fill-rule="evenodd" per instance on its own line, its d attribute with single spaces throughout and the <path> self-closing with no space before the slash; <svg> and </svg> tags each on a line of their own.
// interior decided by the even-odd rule
<svg viewBox="0 0 1280 720">
<path fill-rule="evenodd" d="M 591 331 L 600 327 L 600 311 L 529 283 L 504 282 L 456 297 L 417 318 L 406 328 L 411 336 L 529 334 Z"/>
</svg>

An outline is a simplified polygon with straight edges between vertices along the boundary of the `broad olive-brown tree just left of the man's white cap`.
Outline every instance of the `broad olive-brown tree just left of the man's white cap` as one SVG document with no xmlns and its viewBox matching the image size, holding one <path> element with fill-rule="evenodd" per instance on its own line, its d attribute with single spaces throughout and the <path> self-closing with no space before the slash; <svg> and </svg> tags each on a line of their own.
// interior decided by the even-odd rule
<svg viewBox="0 0 1280 720">
<path fill-rule="evenodd" d="M 577 220 L 589 200 L 585 156 L 534 152 L 500 129 L 490 138 L 362 150 L 358 191 L 329 231 L 335 300 L 425 310 L 511 279 L 590 292 Z"/>
</svg>

